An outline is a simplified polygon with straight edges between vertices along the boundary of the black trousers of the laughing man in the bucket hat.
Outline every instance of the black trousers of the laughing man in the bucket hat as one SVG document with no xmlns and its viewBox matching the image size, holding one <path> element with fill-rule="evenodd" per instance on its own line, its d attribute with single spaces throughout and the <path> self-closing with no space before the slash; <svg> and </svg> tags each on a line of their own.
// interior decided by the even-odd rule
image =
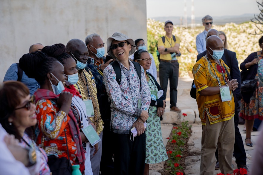
<svg viewBox="0 0 263 175">
<path fill-rule="evenodd" d="M 114 174 L 143 175 L 145 166 L 145 132 L 130 140 L 131 134 L 113 133 Z"/>
</svg>

